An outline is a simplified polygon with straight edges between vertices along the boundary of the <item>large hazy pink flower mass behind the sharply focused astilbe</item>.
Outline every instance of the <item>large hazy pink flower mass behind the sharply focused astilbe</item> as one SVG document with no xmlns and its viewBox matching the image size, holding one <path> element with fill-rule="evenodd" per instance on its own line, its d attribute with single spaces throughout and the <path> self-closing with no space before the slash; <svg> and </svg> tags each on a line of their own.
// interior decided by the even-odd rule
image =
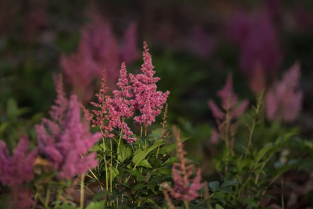
<svg viewBox="0 0 313 209">
<path fill-rule="evenodd" d="M 92 82 L 102 76 L 104 67 L 108 78 L 107 85 L 110 90 L 115 90 L 119 63 L 125 61 L 131 64 L 140 55 L 136 46 L 135 22 L 131 22 L 119 47 L 110 23 L 102 19 L 100 13 L 96 11 L 94 13 L 90 11 L 89 17 L 92 22 L 81 29 L 77 52 L 62 55 L 60 60 L 66 81 L 72 85 L 73 92 L 83 103 L 90 102 L 94 91 Z"/>
</svg>

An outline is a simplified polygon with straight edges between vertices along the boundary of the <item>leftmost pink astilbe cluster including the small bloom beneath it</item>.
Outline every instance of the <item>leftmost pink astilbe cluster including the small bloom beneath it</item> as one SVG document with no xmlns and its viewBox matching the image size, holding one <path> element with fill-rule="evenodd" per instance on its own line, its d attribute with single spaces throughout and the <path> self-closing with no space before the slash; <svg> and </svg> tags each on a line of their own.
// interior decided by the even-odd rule
<svg viewBox="0 0 313 209">
<path fill-rule="evenodd" d="M 16 199 L 10 202 L 13 208 L 26 208 L 33 204 L 33 193 L 24 184 L 33 180 L 33 163 L 37 157 L 37 149 L 29 150 L 30 142 L 24 135 L 18 146 L 9 155 L 6 144 L 0 141 L 0 180 L 11 186 L 12 196 Z"/>
</svg>

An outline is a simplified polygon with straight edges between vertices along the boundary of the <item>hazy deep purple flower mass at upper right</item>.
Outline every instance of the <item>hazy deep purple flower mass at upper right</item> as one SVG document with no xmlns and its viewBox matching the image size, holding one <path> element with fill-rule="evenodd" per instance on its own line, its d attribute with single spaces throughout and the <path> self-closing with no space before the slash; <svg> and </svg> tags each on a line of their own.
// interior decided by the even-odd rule
<svg viewBox="0 0 313 209">
<path fill-rule="evenodd" d="M 230 23 L 230 39 L 238 45 L 240 67 L 250 75 L 259 63 L 264 72 L 277 71 L 282 60 L 279 40 L 268 11 L 238 11 Z"/>
</svg>

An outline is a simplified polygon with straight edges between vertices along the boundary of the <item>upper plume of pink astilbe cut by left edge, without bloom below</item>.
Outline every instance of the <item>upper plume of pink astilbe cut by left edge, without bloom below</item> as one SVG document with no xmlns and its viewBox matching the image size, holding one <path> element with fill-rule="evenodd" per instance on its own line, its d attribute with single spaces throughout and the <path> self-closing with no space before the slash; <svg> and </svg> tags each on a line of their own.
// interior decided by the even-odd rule
<svg viewBox="0 0 313 209">
<path fill-rule="evenodd" d="M 37 149 L 29 150 L 30 142 L 24 135 L 18 146 L 9 156 L 6 144 L 0 141 L 0 180 L 3 184 L 18 186 L 33 180 L 33 163 L 37 157 Z"/>
</svg>

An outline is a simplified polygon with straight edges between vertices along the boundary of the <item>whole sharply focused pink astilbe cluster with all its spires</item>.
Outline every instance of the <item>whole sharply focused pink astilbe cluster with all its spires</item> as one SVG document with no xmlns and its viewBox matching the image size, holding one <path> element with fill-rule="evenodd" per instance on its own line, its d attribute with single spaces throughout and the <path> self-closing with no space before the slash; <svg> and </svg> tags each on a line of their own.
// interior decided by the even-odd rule
<svg viewBox="0 0 313 209">
<path fill-rule="evenodd" d="M 92 121 L 93 127 L 99 126 L 102 130 L 102 137 L 114 136 L 110 132 L 118 128 L 121 133 L 124 133 L 123 138 L 126 142 L 132 143 L 136 138 L 131 137 L 133 133 L 124 119 L 133 117 L 134 113 L 138 111 L 140 115 L 133 117 L 133 119 L 137 125 L 145 125 L 146 127 L 151 125 L 155 121 L 155 117 L 161 113 L 170 92 L 156 91 L 156 82 L 160 78 L 153 76 L 155 71 L 153 71 L 154 66 L 148 50 L 148 46 L 144 42 L 144 63 L 141 65 L 143 73 L 136 76 L 129 74 L 128 76 L 125 62 L 123 62 L 117 83 L 120 90 L 114 90 L 113 97 L 110 97 L 105 95 L 108 87 L 104 72 L 100 92 L 96 94 L 99 102 L 91 102 L 94 107 L 100 108 L 100 110 L 92 110 L 89 113 L 83 107 L 85 116 Z M 104 120 L 107 122 L 104 123 Z"/>
</svg>

